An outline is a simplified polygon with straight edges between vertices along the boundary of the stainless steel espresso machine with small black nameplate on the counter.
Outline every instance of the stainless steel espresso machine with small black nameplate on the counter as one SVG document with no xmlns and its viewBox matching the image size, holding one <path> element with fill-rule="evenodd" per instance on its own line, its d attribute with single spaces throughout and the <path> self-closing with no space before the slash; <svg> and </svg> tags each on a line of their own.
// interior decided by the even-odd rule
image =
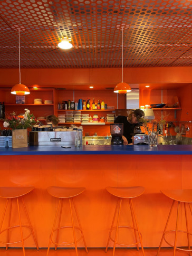
<svg viewBox="0 0 192 256">
<path fill-rule="evenodd" d="M 30 146 L 74 145 L 74 131 L 30 131 Z M 82 145 L 82 131 L 79 131 Z"/>
</svg>

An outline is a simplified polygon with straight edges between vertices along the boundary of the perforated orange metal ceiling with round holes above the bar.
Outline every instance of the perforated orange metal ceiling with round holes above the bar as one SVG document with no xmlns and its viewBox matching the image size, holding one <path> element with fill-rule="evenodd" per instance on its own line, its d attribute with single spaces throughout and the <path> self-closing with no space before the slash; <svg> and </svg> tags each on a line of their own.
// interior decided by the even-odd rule
<svg viewBox="0 0 192 256">
<path fill-rule="evenodd" d="M 190 0 L 1 0 L 0 68 L 178 67 L 192 65 Z M 71 50 L 60 50 L 62 37 Z"/>
</svg>

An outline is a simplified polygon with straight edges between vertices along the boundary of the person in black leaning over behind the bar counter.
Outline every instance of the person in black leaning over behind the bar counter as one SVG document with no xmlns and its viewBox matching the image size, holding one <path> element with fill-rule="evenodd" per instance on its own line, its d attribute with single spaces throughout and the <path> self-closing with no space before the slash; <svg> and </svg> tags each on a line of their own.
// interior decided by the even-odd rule
<svg viewBox="0 0 192 256">
<path fill-rule="evenodd" d="M 145 113 L 141 109 L 136 109 L 130 112 L 128 117 L 118 116 L 114 123 L 122 123 L 123 124 L 123 145 L 132 144 L 132 136 L 134 132 L 134 128 L 140 121 L 141 117 L 144 117 Z"/>
</svg>

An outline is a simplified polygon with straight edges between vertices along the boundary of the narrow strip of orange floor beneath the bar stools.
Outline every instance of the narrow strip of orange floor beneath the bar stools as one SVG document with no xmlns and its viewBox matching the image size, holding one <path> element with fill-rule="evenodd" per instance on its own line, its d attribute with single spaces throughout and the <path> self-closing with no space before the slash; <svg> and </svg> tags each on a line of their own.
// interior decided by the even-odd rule
<svg viewBox="0 0 192 256">
<path fill-rule="evenodd" d="M 172 248 L 163 248 L 161 249 L 159 256 L 172 256 L 173 249 Z M 46 249 L 40 249 L 39 251 L 35 249 L 26 249 L 25 250 L 26 256 L 45 256 L 46 255 Z M 157 254 L 157 248 L 145 248 L 145 256 L 156 256 Z M 7 251 L 4 248 L 0 248 L 0 255 L 1 256 L 22 256 L 23 252 L 22 249 L 8 249 Z M 74 249 L 58 249 L 57 251 L 51 249 L 49 255 L 66 255 L 66 256 L 76 256 Z M 111 256 L 112 255 L 112 249 L 109 249 L 107 253 L 105 253 L 104 248 L 90 248 L 89 253 L 87 254 L 84 249 L 78 250 L 79 256 Z M 132 248 L 123 248 L 123 249 L 116 249 L 115 256 L 142 256 L 141 249 L 139 252 L 136 249 Z M 176 250 L 176 256 L 187 256 L 188 253 L 181 252 Z"/>
</svg>

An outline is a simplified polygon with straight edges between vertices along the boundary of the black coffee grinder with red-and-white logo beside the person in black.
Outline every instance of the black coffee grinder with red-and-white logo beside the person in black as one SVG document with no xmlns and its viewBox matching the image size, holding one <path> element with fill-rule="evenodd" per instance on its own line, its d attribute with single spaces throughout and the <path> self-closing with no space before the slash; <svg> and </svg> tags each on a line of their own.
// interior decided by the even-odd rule
<svg viewBox="0 0 192 256">
<path fill-rule="evenodd" d="M 123 145 L 123 124 L 110 124 L 111 145 Z"/>
</svg>

